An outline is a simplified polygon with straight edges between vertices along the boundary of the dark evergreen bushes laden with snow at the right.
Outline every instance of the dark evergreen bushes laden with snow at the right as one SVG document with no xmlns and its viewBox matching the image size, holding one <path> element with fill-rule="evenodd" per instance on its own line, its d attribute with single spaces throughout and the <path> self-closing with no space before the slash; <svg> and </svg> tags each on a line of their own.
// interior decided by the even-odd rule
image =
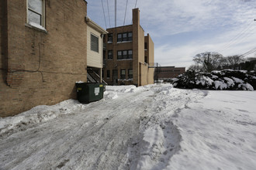
<svg viewBox="0 0 256 170">
<path fill-rule="evenodd" d="M 195 73 L 193 70 L 188 70 L 179 75 L 173 85 L 186 89 L 254 90 L 256 89 L 256 72 L 222 70 L 211 73 Z"/>
</svg>

